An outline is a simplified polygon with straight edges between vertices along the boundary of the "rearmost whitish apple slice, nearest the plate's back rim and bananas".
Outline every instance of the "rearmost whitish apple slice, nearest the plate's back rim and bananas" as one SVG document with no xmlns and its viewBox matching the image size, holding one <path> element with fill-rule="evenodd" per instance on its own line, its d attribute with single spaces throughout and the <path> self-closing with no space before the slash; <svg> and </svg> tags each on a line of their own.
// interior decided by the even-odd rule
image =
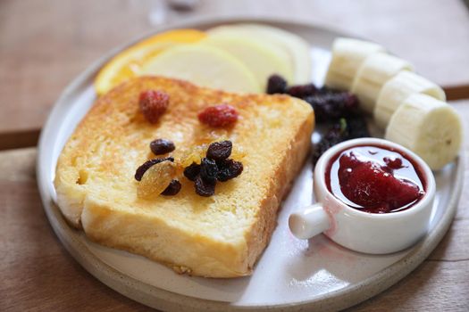
<svg viewBox="0 0 469 312">
<path fill-rule="evenodd" d="M 289 62 L 293 68 L 292 82 L 305 84 L 311 81 L 310 46 L 305 39 L 287 30 L 262 24 L 235 24 L 208 29 L 207 33 L 238 34 L 242 37 L 255 39 L 259 43 L 266 42 L 278 46 L 289 55 Z"/>
</svg>

